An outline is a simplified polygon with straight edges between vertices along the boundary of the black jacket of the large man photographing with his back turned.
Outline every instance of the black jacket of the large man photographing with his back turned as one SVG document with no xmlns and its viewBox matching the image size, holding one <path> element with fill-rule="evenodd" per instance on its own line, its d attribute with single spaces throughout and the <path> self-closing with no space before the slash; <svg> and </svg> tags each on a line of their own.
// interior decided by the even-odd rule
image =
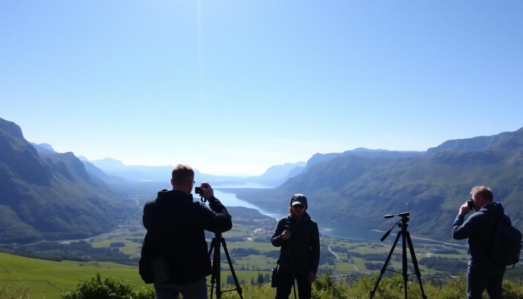
<svg viewBox="0 0 523 299">
<path fill-rule="evenodd" d="M 187 284 L 211 274 L 203 230 L 227 231 L 232 222 L 217 198 L 209 200 L 209 207 L 193 202 L 192 194 L 179 190 L 162 190 L 156 200 L 145 204 L 143 226 L 147 234 L 142 260 L 164 256 L 170 268 L 168 282 Z"/>
</svg>

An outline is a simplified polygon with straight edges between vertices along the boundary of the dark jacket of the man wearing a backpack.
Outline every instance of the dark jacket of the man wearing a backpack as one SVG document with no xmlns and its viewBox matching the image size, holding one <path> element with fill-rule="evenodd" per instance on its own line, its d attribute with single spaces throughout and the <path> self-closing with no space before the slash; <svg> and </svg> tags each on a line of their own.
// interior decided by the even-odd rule
<svg viewBox="0 0 523 299">
<path fill-rule="evenodd" d="M 510 218 L 504 213 L 503 206 L 493 202 L 484 205 L 466 221 L 463 221 L 464 218 L 463 215 L 456 216 L 452 227 L 452 238 L 456 240 L 469 238 L 469 265 L 495 267 L 490 262 L 489 250 L 496 223 L 502 220 L 510 224 Z"/>
</svg>

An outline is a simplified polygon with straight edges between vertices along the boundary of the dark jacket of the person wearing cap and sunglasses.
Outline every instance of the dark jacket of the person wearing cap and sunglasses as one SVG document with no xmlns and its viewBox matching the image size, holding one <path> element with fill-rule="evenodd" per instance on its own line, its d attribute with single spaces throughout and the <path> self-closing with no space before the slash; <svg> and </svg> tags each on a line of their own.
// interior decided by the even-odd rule
<svg viewBox="0 0 523 299">
<path fill-rule="evenodd" d="M 290 226 L 291 238 L 283 240 L 280 235 L 286 225 Z M 285 272 L 292 271 L 288 254 L 289 241 L 295 274 L 316 273 L 320 263 L 320 232 L 318 225 L 307 212 L 303 214 L 300 221 L 296 221 L 291 213 L 281 218 L 272 235 L 272 245 L 281 247 L 280 270 Z"/>
</svg>

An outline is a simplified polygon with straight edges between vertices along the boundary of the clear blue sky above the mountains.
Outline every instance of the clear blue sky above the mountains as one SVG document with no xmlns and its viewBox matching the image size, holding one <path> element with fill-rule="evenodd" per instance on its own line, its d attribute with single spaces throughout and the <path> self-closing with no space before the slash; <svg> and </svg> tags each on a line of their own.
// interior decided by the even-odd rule
<svg viewBox="0 0 523 299">
<path fill-rule="evenodd" d="M 212 174 L 523 127 L 523 1 L 2 1 L 0 117 Z"/>
</svg>

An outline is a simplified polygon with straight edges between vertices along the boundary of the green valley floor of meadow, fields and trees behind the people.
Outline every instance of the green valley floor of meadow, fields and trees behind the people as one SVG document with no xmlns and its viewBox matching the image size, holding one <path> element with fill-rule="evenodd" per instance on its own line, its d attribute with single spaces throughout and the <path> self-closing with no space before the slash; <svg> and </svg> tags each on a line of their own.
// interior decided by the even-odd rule
<svg viewBox="0 0 523 299">
<path fill-rule="evenodd" d="M 235 215 L 235 223 L 233 229 L 223 235 L 238 281 L 245 286 L 245 292 L 251 292 L 254 297 L 257 293 L 271 297 L 274 290 L 264 289 L 263 285 L 269 281 L 271 270 L 275 267 L 279 255 L 279 249 L 270 244 L 274 219 L 261 214 L 253 216 L 252 211 L 247 211 L 246 208 L 232 207 L 231 210 Z M 32 296 L 38 298 L 59 299 L 63 290 L 73 289 L 79 281 L 93 277 L 98 272 L 102 277 L 110 276 L 129 281 L 138 288 L 147 287 L 140 279 L 137 265 L 144 234 L 140 218 L 136 217 L 126 220 L 111 232 L 85 240 L 4 246 L 5 251 L 39 259 L 0 252 L 0 285 L 5 286 L 4 290 L 10 288 L 21 292 L 28 289 Z M 206 236 L 210 241 L 212 234 Z M 342 283 L 342 290 L 353 290 L 356 281 L 363 283 L 365 277 L 379 273 L 391 247 L 390 240 L 368 242 L 324 235 L 321 237 L 321 244 L 319 274 L 328 274 L 336 283 Z M 427 285 L 443 290 L 444 286 L 451 283 L 449 280 L 452 276 L 459 276 L 467 268 L 467 253 L 464 247 L 425 243 L 420 240 L 414 241 L 414 247 L 422 279 Z M 221 252 L 221 282 L 232 284 L 229 264 L 223 249 Z M 521 264 L 523 263 L 506 272 L 505 278 L 514 281 L 514 285 L 518 284 L 523 275 Z M 412 268 L 410 257 L 408 265 Z M 401 271 L 401 267 L 399 244 L 388 269 Z M 414 270 L 410 269 L 409 273 L 412 272 Z M 387 277 L 392 274 L 390 271 L 385 272 Z M 333 285 L 337 285 L 336 283 Z M 262 285 L 261 289 L 250 286 L 258 284 Z M 321 290 L 323 289 L 320 287 L 317 291 Z M 347 294 L 347 298 L 357 298 L 359 295 L 354 292 L 356 291 L 342 293 Z M 366 292 L 368 295 L 369 291 Z M 361 294 L 363 293 L 365 292 Z"/>
</svg>

